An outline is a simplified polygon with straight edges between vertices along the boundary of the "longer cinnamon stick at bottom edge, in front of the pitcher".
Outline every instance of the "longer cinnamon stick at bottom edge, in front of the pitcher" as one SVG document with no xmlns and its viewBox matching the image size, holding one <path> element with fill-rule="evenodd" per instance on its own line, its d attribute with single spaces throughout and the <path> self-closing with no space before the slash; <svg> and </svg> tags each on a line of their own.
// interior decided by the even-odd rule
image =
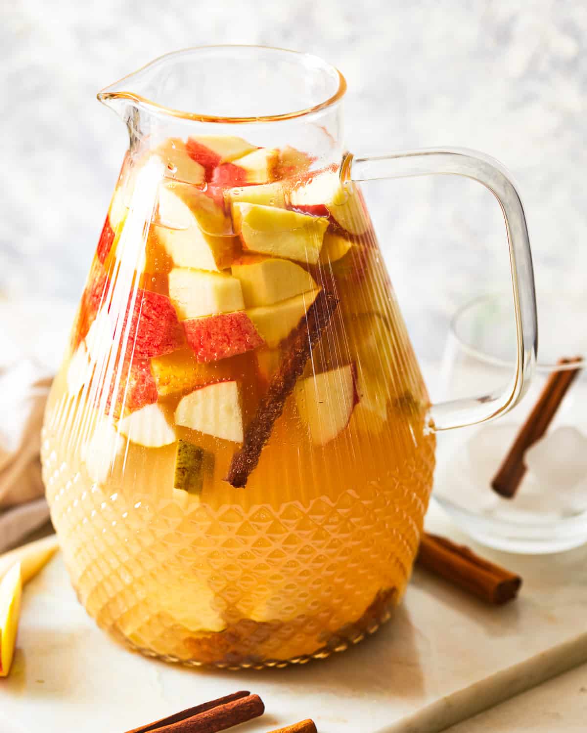
<svg viewBox="0 0 587 733">
<path fill-rule="evenodd" d="M 263 715 L 265 706 L 258 695 L 241 692 L 189 707 L 168 718 L 147 723 L 127 733 L 217 733 Z"/>
</svg>

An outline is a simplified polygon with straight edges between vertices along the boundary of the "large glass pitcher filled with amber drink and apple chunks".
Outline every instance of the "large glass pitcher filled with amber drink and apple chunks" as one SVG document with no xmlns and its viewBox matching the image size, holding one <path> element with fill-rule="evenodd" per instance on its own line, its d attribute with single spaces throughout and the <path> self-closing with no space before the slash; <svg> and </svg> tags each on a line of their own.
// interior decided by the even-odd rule
<svg viewBox="0 0 587 733">
<path fill-rule="evenodd" d="M 353 158 L 343 76 L 275 48 L 191 48 L 98 95 L 128 128 L 43 471 L 73 586 L 147 655 L 323 658 L 401 600 L 434 433 L 498 416 L 536 350 L 517 192 L 466 150 Z M 503 209 L 517 368 L 431 405 L 358 182 L 448 173 Z M 482 389 L 482 387 L 481 387 Z"/>
</svg>

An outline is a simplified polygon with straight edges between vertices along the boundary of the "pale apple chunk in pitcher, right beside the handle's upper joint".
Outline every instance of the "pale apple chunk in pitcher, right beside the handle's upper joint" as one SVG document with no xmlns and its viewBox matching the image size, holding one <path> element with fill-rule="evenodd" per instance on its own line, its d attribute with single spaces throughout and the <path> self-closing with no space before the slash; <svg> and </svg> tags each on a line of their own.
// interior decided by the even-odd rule
<svg viewBox="0 0 587 733">
<path fill-rule="evenodd" d="M 313 174 L 307 183 L 293 188 L 290 204 L 316 216 L 327 213 L 352 235 L 362 235 L 369 228 L 369 219 L 359 190 L 353 183 L 342 185 L 338 171 Z"/>
</svg>

